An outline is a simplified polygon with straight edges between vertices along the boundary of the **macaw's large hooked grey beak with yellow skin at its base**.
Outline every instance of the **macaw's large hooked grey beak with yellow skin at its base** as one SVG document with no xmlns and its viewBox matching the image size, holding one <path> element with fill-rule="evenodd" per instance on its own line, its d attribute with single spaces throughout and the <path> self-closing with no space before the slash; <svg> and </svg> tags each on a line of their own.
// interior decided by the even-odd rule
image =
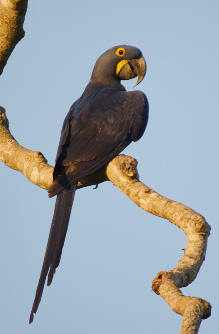
<svg viewBox="0 0 219 334">
<path fill-rule="evenodd" d="M 143 56 L 138 59 L 127 60 L 118 73 L 118 77 L 120 80 L 129 80 L 138 76 L 138 80 L 134 86 L 136 87 L 144 79 L 146 68 L 146 61 Z"/>
</svg>

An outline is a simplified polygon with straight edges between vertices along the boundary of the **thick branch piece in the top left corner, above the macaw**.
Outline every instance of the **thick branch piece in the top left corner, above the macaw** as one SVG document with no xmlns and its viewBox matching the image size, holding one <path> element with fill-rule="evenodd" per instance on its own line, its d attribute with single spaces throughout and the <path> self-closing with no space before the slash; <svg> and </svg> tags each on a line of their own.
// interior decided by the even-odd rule
<svg viewBox="0 0 219 334">
<path fill-rule="evenodd" d="M 0 75 L 16 44 L 24 37 L 27 0 L 0 0 Z"/>
</svg>

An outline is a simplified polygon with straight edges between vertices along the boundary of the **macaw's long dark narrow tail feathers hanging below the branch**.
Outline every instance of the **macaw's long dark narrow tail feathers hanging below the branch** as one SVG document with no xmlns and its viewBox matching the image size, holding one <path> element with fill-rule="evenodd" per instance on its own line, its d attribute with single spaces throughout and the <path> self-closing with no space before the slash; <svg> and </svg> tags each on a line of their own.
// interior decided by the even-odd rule
<svg viewBox="0 0 219 334">
<path fill-rule="evenodd" d="M 39 306 L 48 271 L 49 275 L 48 275 L 47 286 L 49 286 L 52 283 L 52 278 L 53 275 L 55 274 L 55 269 L 59 265 L 62 253 L 62 247 L 65 241 L 65 235 L 67 232 L 68 222 L 71 214 L 71 207 L 74 200 L 75 189 L 76 185 L 73 185 L 71 187 L 71 190 L 64 190 L 59 195 L 57 195 L 54 215 L 46 246 L 46 253 L 40 273 L 39 283 L 36 289 L 36 295 L 33 302 L 33 307 L 30 313 L 29 323 L 33 321 L 33 314 L 36 313 L 37 308 Z"/>
</svg>

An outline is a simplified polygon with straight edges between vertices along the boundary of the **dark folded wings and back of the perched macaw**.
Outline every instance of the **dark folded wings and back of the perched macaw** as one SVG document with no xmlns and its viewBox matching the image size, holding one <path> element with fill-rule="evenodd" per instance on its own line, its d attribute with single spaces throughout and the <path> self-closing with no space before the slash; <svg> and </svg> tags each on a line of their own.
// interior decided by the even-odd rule
<svg viewBox="0 0 219 334">
<path fill-rule="evenodd" d="M 148 121 L 148 101 L 140 91 L 103 89 L 89 101 L 82 100 L 69 113 L 59 144 L 54 196 L 122 152 L 143 135 Z"/>
</svg>

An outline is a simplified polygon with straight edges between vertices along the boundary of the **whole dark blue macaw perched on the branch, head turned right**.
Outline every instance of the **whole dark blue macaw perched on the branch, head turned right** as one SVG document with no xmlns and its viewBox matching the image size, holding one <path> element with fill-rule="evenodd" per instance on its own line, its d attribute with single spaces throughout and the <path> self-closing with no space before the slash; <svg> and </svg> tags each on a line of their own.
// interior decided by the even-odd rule
<svg viewBox="0 0 219 334">
<path fill-rule="evenodd" d="M 143 92 L 127 92 L 121 79 L 144 78 L 146 63 L 133 46 L 113 47 L 100 56 L 82 96 L 63 123 L 49 197 L 58 195 L 39 284 L 30 315 L 36 313 L 47 273 L 52 282 L 67 231 L 76 184 L 139 140 L 148 122 Z"/>
</svg>

